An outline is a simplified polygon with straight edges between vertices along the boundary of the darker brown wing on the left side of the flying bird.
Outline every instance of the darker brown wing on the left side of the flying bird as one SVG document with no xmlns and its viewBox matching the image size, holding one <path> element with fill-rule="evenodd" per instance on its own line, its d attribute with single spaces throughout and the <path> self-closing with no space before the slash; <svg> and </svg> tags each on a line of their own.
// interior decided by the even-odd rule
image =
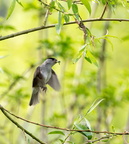
<svg viewBox="0 0 129 144">
<path fill-rule="evenodd" d="M 33 78 L 33 83 L 32 83 L 32 87 L 37 87 L 39 86 L 39 83 L 44 83 L 44 78 L 40 72 L 40 67 L 38 66 L 36 68 L 36 71 L 34 73 L 34 78 Z"/>
</svg>

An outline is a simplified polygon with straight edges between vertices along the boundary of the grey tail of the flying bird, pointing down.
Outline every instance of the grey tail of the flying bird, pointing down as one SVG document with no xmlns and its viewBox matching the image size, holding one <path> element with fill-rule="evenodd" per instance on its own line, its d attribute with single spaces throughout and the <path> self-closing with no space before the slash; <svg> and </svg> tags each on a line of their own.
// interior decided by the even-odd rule
<svg viewBox="0 0 129 144">
<path fill-rule="evenodd" d="M 31 100 L 29 105 L 36 105 L 37 103 L 39 103 L 39 91 L 40 88 L 39 87 L 34 87 L 33 88 L 33 92 L 32 92 L 32 96 L 31 96 Z"/>
</svg>

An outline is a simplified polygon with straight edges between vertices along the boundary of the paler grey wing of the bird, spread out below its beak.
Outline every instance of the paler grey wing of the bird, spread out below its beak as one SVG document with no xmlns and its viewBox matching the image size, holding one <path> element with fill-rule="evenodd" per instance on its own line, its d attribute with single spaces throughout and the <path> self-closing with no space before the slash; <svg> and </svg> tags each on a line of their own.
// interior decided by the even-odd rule
<svg viewBox="0 0 129 144">
<path fill-rule="evenodd" d="M 54 72 L 54 70 L 52 70 L 51 78 L 49 79 L 49 81 L 47 82 L 47 84 L 49 84 L 56 91 L 60 90 L 61 86 L 60 86 L 59 80 L 58 80 L 57 75 Z"/>
</svg>

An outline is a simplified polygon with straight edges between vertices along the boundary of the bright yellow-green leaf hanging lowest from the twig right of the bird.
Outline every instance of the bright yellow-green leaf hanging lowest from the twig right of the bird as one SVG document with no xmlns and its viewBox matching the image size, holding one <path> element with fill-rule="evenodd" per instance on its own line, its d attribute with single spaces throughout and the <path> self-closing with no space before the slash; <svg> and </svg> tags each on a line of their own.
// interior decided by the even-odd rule
<svg viewBox="0 0 129 144">
<path fill-rule="evenodd" d="M 95 57 L 93 56 L 93 54 L 92 54 L 90 51 L 86 51 L 85 59 L 86 59 L 88 62 L 93 63 L 93 64 L 95 64 L 96 66 L 98 66 L 98 63 L 97 63 Z"/>
</svg>

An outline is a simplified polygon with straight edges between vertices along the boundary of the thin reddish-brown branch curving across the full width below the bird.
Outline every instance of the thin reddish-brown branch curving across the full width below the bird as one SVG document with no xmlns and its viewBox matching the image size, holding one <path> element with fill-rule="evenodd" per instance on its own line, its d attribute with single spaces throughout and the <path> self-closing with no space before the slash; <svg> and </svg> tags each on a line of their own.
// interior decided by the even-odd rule
<svg viewBox="0 0 129 144">
<path fill-rule="evenodd" d="M 3 108 L 1 105 L 0 105 L 0 110 L 4 113 L 5 111 L 7 113 L 9 113 L 10 115 L 18 118 L 18 119 L 21 119 L 25 122 L 28 122 L 28 123 L 31 123 L 31 124 L 34 124 L 34 125 L 38 125 L 38 126 L 41 126 L 41 127 L 46 127 L 46 128 L 52 128 L 52 129 L 59 129 L 59 130 L 64 130 L 64 131 L 75 131 L 75 132 L 92 132 L 92 133 L 96 133 L 96 134 L 100 134 L 100 133 L 103 133 L 103 134 L 111 134 L 111 135 L 129 135 L 129 132 L 128 131 L 125 131 L 125 132 L 108 132 L 108 131 L 92 131 L 92 130 L 77 130 L 77 129 L 68 129 L 68 128 L 60 128 L 60 127 L 55 127 L 55 126 L 48 126 L 48 125 L 43 125 L 43 124 L 39 124 L 39 123 L 35 123 L 35 122 L 32 122 L 32 121 L 29 121 L 29 120 L 26 120 L 24 118 L 21 118 L 11 112 L 9 112 L 8 110 L 6 110 L 5 108 Z M 5 113 L 6 113 L 5 112 Z M 11 119 L 10 119 L 11 120 Z M 12 120 L 11 120 L 12 121 Z M 14 123 L 15 124 L 15 123 Z"/>
</svg>

